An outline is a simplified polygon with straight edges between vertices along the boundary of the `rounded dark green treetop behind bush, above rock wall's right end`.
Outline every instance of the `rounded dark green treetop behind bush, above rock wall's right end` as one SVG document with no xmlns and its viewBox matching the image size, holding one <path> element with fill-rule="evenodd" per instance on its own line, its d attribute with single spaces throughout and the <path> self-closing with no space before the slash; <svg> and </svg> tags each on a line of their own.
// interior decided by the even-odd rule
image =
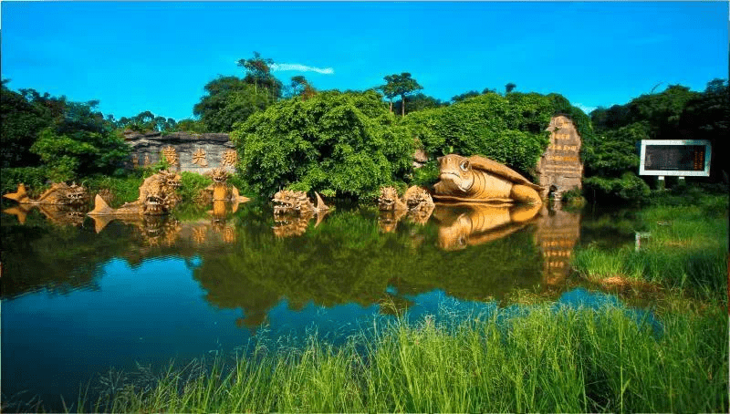
<svg viewBox="0 0 730 414">
<path fill-rule="evenodd" d="M 265 94 L 245 79 L 219 76 L 205 85 L 207 95 L 193 107 L 193 114 L 209 132 L 230 132 L 236 122 L 243 122 L 256 111 L 266 109 Z"/>
</svg>

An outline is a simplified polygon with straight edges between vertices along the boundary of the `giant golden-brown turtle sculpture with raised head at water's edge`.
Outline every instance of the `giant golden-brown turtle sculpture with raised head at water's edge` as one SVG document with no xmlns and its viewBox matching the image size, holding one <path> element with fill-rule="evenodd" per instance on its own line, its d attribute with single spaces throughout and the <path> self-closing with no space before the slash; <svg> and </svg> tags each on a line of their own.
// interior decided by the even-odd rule
<svg viewBox="0 0 730 414">
<path fill-rule="evenodd" d="M 541 204 L 533 184 L 503 164 L 474 155 L 449 154 L 439 159 L 440 181 L 433 198 L 445 202 L 525 202 Z"/>
</svg>

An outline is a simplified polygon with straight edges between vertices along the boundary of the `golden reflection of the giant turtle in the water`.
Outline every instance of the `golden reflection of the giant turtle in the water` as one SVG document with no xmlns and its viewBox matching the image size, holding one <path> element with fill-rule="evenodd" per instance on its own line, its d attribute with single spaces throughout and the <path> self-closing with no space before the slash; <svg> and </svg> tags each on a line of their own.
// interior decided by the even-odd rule
<svg viewBox="0 0 730 414">
<path fill-rule="evenodd" d="M 524 204 L 438 204 L 433 216 L 439 221 L 439 246 L 457 250 L 505 237 L 530 223 L 539 210 L 539 205 Z"/>
</svg>

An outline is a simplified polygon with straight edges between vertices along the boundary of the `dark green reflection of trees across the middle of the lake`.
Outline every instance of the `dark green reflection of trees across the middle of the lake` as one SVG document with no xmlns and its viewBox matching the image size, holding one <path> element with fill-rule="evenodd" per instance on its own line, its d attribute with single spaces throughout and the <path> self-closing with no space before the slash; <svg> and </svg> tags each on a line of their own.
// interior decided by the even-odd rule
<svg viewBox="0 0 730 414">
<path fill-rule="evenodd" d="M 414 237 L 424 241 L 413 243 Z M 194 277 L 214 305 L 245 309 L 249 326 L 282 297 L 295 309 L 310 301 L 370 305 L 394 285 L 404 294 L 441 288 L 480 300 L 540 283 L 540 253 L 530 232 L 460 252 L 443 252 L 436 239 L 434 226 L 410 224 L 382 234 L 372 212 L 335 212 L 297 238 L 240 229 L 235 249 L 204 255 Z"/>
</svg>

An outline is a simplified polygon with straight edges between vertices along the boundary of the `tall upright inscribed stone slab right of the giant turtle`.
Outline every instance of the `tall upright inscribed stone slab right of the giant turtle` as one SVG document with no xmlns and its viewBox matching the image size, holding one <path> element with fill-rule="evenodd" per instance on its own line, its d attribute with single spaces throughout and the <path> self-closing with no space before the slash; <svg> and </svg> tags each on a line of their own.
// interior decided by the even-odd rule
<svg viewBox="0 0 730 414">
<path fill-rule="evenodd" d="M 550 144 L 537 162 L 542 197 L 552 193 L 559 201 L 564 191 L 582 188 L 583 164 L 580 162 L 581 140 L 573 122 L 563 115 L 550 119 Z"/>
</svg>

